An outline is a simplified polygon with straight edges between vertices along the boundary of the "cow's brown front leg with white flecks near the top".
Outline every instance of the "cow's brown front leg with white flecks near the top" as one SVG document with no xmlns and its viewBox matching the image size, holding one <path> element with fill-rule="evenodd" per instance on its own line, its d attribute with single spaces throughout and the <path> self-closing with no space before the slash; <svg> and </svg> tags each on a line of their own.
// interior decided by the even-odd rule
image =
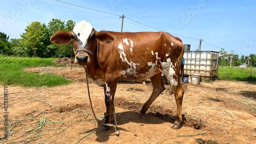
<svg viewBox="0 0 256 144">
<path fill-rule="evenodd" d="M 105 94 L 105 106 L 106 112 L 105 116 L 105 124 L 111 124 L 112 115 L 114 113 L 114 97 L 116 93 L 117 82 L 108 83 L 106 82 L 104 85 L 104 94 Z M 99 130 L 106 131 L 108 130 L 108 126 L 102 126 Z"/>
</svg>

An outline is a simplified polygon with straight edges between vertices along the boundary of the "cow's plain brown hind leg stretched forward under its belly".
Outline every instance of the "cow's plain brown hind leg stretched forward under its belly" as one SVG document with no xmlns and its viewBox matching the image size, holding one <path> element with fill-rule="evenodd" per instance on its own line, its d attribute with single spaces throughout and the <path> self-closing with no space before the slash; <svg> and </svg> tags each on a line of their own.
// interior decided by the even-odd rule
<svg viewBox="0 0 256 144">
<path fill-rule="evenodd" d="M 145 112 L 147 111 L 148 107 L 156 100 L 158 95 L 165 89 L 164 85 L 162 83 L 161 79 L 161 73 L 154 75 L 153 77 L 150 78 L 151 83 L 153 85 L 153 92 L 150 96 L 150 99 L 146 101 L 146 103 L 143 105 L 140 115 L 144 115 Z"/>
</svg>

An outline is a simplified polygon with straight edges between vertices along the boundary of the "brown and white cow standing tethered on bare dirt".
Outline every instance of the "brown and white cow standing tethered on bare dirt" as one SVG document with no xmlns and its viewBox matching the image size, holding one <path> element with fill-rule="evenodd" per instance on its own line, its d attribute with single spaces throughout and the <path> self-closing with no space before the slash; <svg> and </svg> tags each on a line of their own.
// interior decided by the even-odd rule
<svg viewBox="0 0 256 144">
<path fill-rule="evenodd" d="M 140 111 L 140 114 L 145 114 L 165 89 L 161 81 L 163 74 L 172 87 L 177 104 L 172 128 L 181 127 L 184 90 L 180 82 L 180 67 L 184 44 L 179 38 L 165 32 L 97 32 L 89 22 L 81 21 L 71 32 L 55 33 L 51 41 L 56 44 L 72 41 L 75 63 L 87 66 L 88 77 L 104 88 L 106 124 L 111 123 L 119 80 L 151 80 L 153 92 Z"/>
</svg>

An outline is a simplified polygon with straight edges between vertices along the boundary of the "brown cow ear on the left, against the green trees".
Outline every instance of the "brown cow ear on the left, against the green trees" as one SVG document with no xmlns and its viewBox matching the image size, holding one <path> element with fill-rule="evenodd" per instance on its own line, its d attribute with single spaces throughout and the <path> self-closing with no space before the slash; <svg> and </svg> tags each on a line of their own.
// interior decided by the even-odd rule
<svg viewBox="0 0 256 144">
<path fill-rule="evenodd" d="M 70 32 L 58 31 L 50 38 L 50 40 L 53 43 L 64 45 L 68 44 L 71 38 L 72 36 Z"/>
</svg>

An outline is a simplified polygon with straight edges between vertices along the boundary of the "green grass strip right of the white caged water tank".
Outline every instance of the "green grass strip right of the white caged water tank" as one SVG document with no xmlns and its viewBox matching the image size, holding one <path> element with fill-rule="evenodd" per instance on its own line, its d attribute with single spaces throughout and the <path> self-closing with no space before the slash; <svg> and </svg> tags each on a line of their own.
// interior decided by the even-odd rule
<svg viewBox="0 0 256 144">
<path fill-rule="evenodd" d="M 220 80 L 256 82 L 255 67 L 219 66 L 218 70 Z"/>
</svg>

